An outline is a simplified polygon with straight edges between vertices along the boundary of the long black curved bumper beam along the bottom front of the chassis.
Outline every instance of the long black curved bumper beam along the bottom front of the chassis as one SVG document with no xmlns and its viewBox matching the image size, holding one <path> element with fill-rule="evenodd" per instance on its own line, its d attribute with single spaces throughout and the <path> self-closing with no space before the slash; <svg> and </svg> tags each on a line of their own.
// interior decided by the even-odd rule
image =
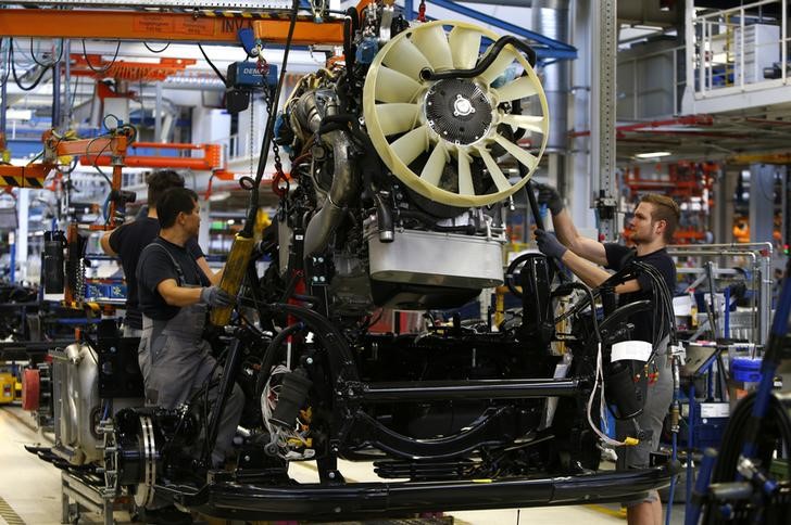
<svg viewBox="0 0 791 525">
<path fill-rule="evenodd" d="M 612 502 L 666 487 L 674 465 L 543 478 L 261 486 L 223 482 L 200 490 L 156 486 L 201 513 L 237 520 L 326 520 L 403 516 L 417 512 L 512 509 Z"/>
</svg>

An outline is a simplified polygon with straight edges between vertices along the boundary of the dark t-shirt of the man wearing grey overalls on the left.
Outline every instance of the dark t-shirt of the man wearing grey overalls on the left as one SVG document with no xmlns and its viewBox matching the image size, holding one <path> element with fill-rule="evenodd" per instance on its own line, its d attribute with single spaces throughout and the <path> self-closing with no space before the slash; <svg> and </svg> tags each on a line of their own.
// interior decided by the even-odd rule
<svg viewBox="0 0 791 525">
<path fill-rule="evenodd" d="M 139 307 L 140 311 L 151 319 L 166 321 L 176 317 L 180 308 L 168 305 L 162 298 L 156 290 L 162 281 L 175 279 L 179 286 L 185 284 L 210 286 L 211 283 L 187 247 L 173 244 L 161 236 L 154 239 L 151 244 L 159 244 L 165 249 L 150 246 L 140 254 L 140 261 L 137 264 Z"/>
</svg>

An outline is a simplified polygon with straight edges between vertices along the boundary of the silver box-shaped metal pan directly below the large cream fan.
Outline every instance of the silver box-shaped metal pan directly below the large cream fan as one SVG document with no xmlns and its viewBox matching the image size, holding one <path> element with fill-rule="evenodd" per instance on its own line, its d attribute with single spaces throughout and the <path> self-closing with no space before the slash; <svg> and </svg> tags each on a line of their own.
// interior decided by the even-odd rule
<svg viewBox="0 0 791 525">
<path fill-rule="evenodd" d="M 503 283 L 502 243 L 495 239 L 403 230 L 391 243 L 367 236 L 377 281 L 484 289 Z"/>
</svg>

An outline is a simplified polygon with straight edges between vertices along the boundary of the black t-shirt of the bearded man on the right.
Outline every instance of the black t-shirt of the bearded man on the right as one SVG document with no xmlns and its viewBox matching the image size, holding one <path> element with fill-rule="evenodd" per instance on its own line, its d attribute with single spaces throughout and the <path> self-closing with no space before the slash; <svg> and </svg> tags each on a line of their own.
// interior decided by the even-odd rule
<svg viewBox="0 0 791 525">
<path fill-rule="evenodd" d="M 604 251 L 607 257 L 606 267 L 615 271 L 622 270 L 626 261 L 631 261 L 628 256 L 633 252 L 632 248 L 615 243 L 605 243 Z M 660 274 L 665 279 L 667 290 L 670 291 L 670 294 L 675 292 L 676 265 L 667 254 L 667 249 L 661 248 L 648 255 L 635 257 L 635 260 L 656 268 Z M 651 278 L 643 272 L 638 276 L 637 282 L 640 284 L 640 290 L 630 294 L 619 294 L 618 306 L 653 298 L 653 282 L 651 281 Z M 669 315 L 673 313 L 670 312 Z M 638 341 L 648 341 L 649 343 L 653 343 L 654 334 L 656 333 L 655 330 L 662 329 L 663 334 L 666 334 L 667 326 L 654 326 L 655 319 L 657 319 L 657 315 L 652 310 L 641 311 L 631 316 L 629 318 L 629 322 L 635 324 L 635 338 Z"/>
</svg>

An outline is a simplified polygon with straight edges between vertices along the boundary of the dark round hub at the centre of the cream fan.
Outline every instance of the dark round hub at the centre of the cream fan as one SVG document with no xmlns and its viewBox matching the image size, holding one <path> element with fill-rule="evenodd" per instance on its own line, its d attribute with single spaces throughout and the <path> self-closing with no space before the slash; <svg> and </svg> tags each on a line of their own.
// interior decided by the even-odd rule
<svg viewBox="0 0 791 525">
<path fill-rule="evenodd" d="M 439 80 L 426 93 L 426 120 L 442 139 L 454 144 L 472 144 L 489 131 L 492 104 L 470 80 Z"/>
</svg>

